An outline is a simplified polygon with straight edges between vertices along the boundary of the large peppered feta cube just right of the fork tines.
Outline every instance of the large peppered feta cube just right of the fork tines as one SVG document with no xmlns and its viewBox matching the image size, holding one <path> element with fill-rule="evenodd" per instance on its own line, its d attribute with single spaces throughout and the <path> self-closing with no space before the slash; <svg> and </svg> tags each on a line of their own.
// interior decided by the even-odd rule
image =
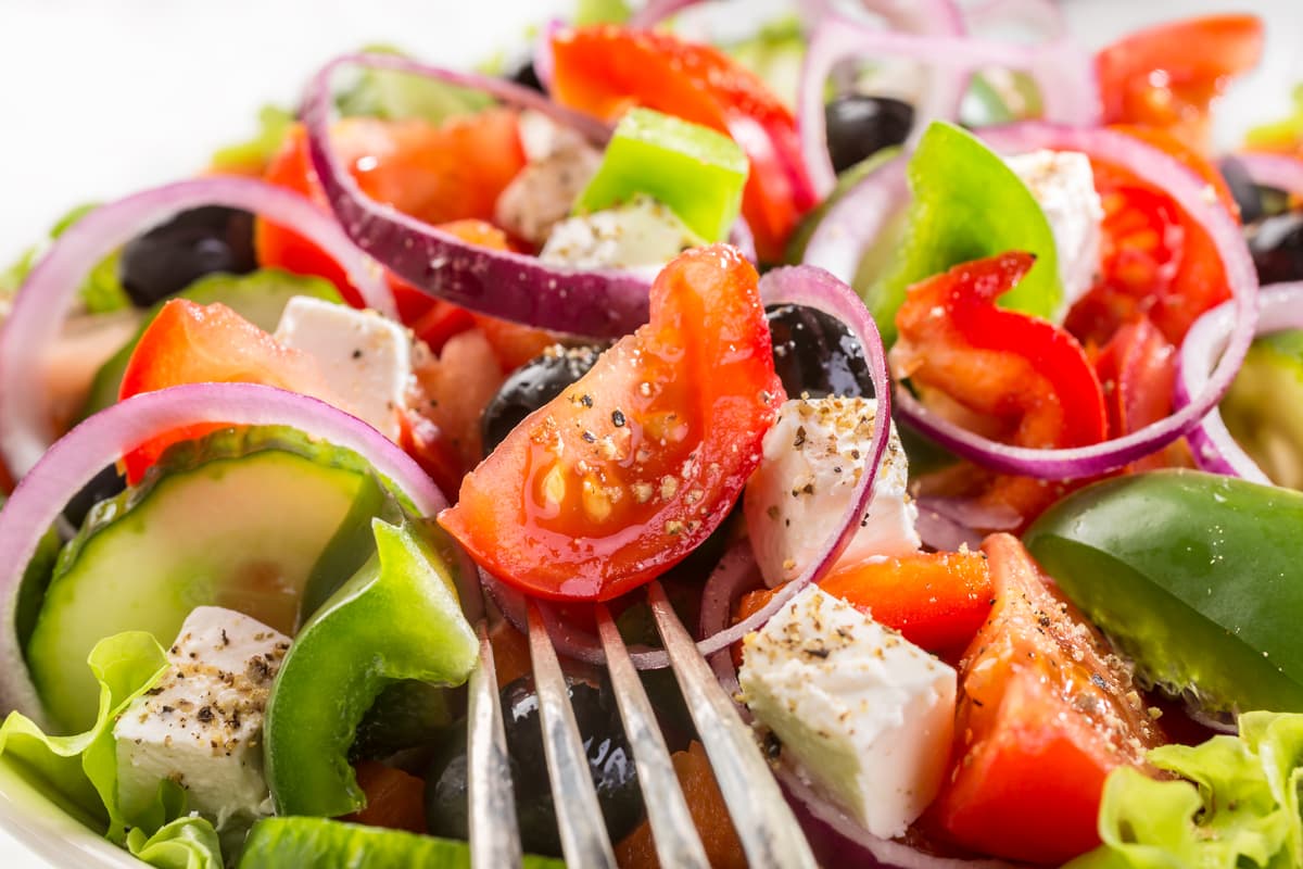
<svg viewBox="0 0 1303 869">
<path fill-rule="evenodd" d="M 743 640 L 743 698 L 810 783 L 876 836 L 936 799 L 954 737 L 954 668 L 818 588 Z"/>
</svg>

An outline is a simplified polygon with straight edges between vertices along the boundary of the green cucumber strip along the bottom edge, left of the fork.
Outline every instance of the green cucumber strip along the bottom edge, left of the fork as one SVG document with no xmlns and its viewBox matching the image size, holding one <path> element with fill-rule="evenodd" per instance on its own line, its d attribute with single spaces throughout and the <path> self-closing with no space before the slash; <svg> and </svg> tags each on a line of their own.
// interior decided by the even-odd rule
<svg viewBox="0 0 1303 869">
<path fill-rule="evenodd" d="M 238 869 L 470 869 L 470 846 L 401 830 L 326 818 L 266 818 L 249 834 Z M 523 869 L 564 869 L 564 860 L 525 855 Z"/>
</svg>

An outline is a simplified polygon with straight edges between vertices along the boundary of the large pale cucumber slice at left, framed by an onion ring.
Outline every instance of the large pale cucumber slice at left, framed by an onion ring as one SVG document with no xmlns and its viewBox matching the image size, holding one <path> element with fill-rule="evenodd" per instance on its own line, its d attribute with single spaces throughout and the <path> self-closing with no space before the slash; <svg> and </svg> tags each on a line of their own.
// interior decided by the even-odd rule
<svg viewBox="0 0 1303 869">
<path fill-rule="evenodd" d="M 26 646 L 50 718 L 65 732 L 94 723 L 86 655 L 103 637 L 149 631 L 167 642 L 203 605 L 292 633 L 308 578 L 332 585 L 323 577 L 354 567 L 330 545 L 373 478 L 356 453 L 284 427 L 169 449 L 60 552 Z"/>
</svg>

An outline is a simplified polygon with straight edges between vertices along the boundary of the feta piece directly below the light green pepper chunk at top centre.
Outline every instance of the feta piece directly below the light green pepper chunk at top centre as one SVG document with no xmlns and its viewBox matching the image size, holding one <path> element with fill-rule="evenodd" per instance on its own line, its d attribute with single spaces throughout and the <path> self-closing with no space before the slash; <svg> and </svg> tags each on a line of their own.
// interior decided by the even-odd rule
<svg viewBox="0 0 1303 869">
<path fill-rule="evenodd" d="M 563 220 L 538 258 L 576 268 L 650 267 L 652 276 L 688 248 L 704 244 L 652 197 Z"/>
</svg>

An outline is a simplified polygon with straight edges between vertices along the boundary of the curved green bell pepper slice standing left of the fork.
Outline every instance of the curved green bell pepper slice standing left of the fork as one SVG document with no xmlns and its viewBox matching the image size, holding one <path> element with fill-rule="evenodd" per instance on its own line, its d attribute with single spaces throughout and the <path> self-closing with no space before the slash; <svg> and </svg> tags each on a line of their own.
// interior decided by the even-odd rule
<svg viewBox="0 0 1303 869">
<path fill-rule="evenodd" d="M 438 528 L 377 519 L 371 530 L 375 555 L 298 632 L 272 685 L 263 760 L 276 814 L 362 808 L 348 749 L 379 693 L 404 679 L 459 685 L 474 667 Z"/>
</svg>

